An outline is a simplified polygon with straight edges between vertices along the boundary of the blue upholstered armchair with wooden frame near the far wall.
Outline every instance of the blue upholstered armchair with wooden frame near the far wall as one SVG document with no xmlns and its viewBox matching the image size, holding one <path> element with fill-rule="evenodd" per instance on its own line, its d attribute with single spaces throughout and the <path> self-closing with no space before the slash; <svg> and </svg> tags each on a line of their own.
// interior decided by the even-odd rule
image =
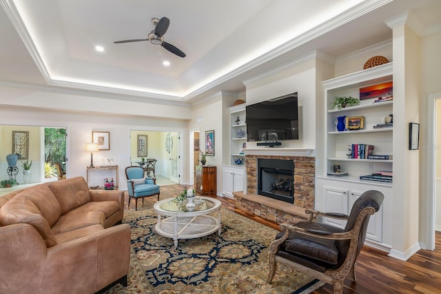
<svg viewBox="0 0 441 294">
<path fill-rule="evenodd" d="M 138 198 L 143 199 L 153 195 L 158 195 L 160 189 L 156 185 L 156 179 L 154 177 L 144 177 L 144 168 L 140 166 L 127 166 L 125 168 L 125 177 L 127 177 L 127 191 L 129 194 L 129 207 L 130 199 L 135 199 L 135 209 L 138 210 Z"/>
</svg>

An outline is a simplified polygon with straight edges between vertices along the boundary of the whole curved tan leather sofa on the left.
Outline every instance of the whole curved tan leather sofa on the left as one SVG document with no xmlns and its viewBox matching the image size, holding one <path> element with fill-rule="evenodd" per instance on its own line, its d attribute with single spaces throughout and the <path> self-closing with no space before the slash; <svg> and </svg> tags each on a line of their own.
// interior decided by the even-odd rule
<svg viewBox="0 0 441 294">
<path fill-rule="evenodd" d="M 123 192 L 83 177 L 0 197 L 0 293 L 95 293 L 127 286 L 130 226 Z"/>
</svg>

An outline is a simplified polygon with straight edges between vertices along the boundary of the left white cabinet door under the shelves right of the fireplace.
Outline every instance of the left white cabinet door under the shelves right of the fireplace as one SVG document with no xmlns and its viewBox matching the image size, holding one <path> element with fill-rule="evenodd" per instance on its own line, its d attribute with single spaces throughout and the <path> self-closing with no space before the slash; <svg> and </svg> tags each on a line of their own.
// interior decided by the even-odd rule
<svg viewBox="0 0 441 294">
<path fill-rule="evenodd" d="M 325 189 L 325 213 L 348 213 L 348 190 L 323 187 Z M 323 219 L 325 224 L 336 226 L 338 228 L 345 228 L 346 221 L 340 219 L 332 219 L 325 217 Z"/>
</svg>

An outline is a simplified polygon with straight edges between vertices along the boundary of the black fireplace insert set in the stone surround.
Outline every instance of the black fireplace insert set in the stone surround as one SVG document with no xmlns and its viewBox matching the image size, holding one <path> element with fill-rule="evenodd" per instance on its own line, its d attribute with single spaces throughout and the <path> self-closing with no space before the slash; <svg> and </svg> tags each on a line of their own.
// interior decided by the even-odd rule
<svg viewBox="0 0 441 294">
<path fill-rule="evenodd" d="M 294 204 L 294 161 L 258 159 L 257 193 Z"/>
</svg>

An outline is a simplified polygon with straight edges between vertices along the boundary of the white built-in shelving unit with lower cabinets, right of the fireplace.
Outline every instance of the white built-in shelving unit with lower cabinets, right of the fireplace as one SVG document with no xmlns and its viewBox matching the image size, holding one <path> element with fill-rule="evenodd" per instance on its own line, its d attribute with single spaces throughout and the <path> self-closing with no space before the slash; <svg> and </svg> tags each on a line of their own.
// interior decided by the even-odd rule
<svg viewBox="0 0 441 294">
<path fill-rule="evenodd" d="M 362 99 L 360 105 L 342 109 L 331 109 L 335 97 L 351 96 L 359 99 L 360 88 L 392 81 L 393 63 L 386 63 L 367 70 L 353 72 L 323 82 L 325 88 L 325 162 L 320 164 L 316 179 L 316 209 L 325 212 L 349 214 L 353 202 L 367 190 L 379 190 L 387 200 L 371 217 L 367 229 L 367 242 L 371 246 L 389 251 L 391 247 L 391 207 L 387 204 L 393 194 L 393 183 L 360 180 L 362 175 L 371 175 L 378 170 L 393 170 L 393 159 L 349 158 L 352 144 L 373 145 L 373 155 L 393 155 L 393 127 L 373 128 L 381 124 L 382 118 L 393 114 L 393 100 L 376 102 Z M 397 97 L 398 99 L 399 97 Z M 337 117 L 362 117 L 364 126 L 360 130 L 338 131 Z M 331 176 L 334 165 L 340 165 L 347 176 Z M 344 228 L 345 222 L 324 222 Z"/>
</svg>

